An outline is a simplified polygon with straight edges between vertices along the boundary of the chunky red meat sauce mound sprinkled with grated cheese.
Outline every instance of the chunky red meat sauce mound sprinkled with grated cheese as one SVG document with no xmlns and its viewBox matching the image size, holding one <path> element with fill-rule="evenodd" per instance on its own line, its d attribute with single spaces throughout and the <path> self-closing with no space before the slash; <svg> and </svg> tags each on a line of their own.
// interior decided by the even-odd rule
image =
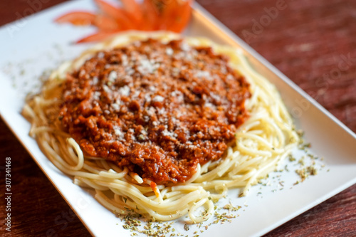
<svg viewBox="0 0 356 237">
<path fill-rule="evenodd" d="M 99 51 L 67 75 L 58 119 L 85 155 L 157 184 L 187 181 L 248 117 L 248 83 L 228 60 L 182 40 Z"/>
</svg>

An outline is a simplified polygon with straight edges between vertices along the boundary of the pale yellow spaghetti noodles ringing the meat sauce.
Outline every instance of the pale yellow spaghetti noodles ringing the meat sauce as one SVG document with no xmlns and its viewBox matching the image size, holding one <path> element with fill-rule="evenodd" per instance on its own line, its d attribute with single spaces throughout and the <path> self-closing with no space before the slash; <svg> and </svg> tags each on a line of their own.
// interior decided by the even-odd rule
<svg viewBox="0 0 356 237">
<path fill-rule="evenodd" d="M 166 32 L 131 32 L 100 43 L 54 71 L 42 92 L 28 100 L 23 115 L 31 121 L 30 135 L 36 138 L 48 159 L 62 172 L 73 176 L 75 184 L 95 189 L 95 198 L 106 208 L 117 214 L 131 210 L 159 221 L 188 214 L 193 223 L 199 223 L 211 216 L 214 201 L 226 196 L 228 189 L 243 187 L 245 195 L 258 179 L 276 169 L 278 162 L 298 144 L 298 135 L 276 88 L 251 68 L 241 51 L 218 46 L 204 38 L 184 38 L 189 46 L 211 47 L 214 53 L 227 56 L 229 67 L 244 75 L 249 84 L 251 98 L 247 95 L 244 98 L 244 110 L 249 117 L 239 123 L 234 144 L 229 144 L 224 157 L 198 162 L 184 181 L 159 179 L 162 181 L 159 182 L 145 173 L 137 174 L 130 166 L 89 154 L 58 121 L 63 107 L 61 88 L 67 74 L 78 70 L 98 51 L 125 47 L 148 38 L 169 43 L 180 37 Z M 201 208 L 204 211 L 199 211 Z"/>
</svg>

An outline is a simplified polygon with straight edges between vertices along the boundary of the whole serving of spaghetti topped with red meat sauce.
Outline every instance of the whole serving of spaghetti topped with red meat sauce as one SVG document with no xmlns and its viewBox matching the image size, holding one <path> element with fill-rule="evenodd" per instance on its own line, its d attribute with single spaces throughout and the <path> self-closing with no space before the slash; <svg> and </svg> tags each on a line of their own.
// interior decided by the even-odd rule
<svg viewBox="0 0 356 237">
<path fill-rule="evenodd" d="M 23 115 L 48 159 L 115 214 L 206 221 L 298 144 L 276 88 L 238 48 L 122 33 L 64 63 Z"/>
</svg>

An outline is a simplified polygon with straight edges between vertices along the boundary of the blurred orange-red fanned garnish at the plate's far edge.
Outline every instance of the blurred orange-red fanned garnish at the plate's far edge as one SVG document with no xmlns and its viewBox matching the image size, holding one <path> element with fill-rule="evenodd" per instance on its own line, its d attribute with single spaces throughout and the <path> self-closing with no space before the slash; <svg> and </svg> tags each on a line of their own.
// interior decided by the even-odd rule
<svg viewBox="0 0 356 237">
<path fill-rule="evenodd" d="M 57 23 L 75 26 L 92 25 L 98 32 L 80 39 L 77 43 L 102 41 L 115 33 L 126 30 L 167 30 L 180 33 L 189 23 L 193 0 L 121 0 L 122 8 L 103 0 L 94 0 L 100 11 L 73 11 L 58 17 Z"/>
</svg>

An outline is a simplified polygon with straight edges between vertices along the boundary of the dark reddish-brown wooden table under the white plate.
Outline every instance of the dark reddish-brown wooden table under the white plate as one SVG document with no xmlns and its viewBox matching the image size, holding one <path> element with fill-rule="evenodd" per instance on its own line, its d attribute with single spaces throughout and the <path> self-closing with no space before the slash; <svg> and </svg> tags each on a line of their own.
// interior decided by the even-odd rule
<svg viewBox="0 0 356 237">
<path fill-rule="evenodd" d="M 1 0 L 0 25 L 62 1 Z M 197 1 L 356 132 L 356 1 Z M 12 157 L 12 226 L 6 236 L 89 236 L 2 120 L 0 131 L 0 234 L 4 160 Z M 356 236 L 356 185 L 266 236 Z"/>
</svg>

